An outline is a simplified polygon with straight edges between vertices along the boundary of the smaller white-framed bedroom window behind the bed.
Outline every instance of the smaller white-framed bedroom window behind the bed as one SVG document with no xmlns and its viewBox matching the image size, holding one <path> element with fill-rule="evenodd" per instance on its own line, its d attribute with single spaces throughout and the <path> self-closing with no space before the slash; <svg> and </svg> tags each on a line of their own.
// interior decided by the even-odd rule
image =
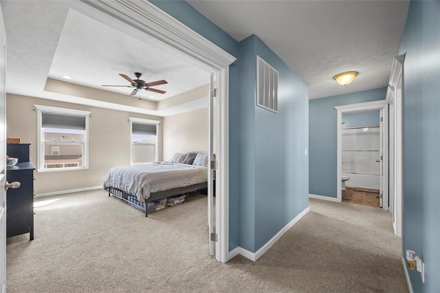
<svg viewBox="0 0 440 293">
<path fill-rule="evenodd" d="M 130 118 L 131 164 L 157 162 L 159 121 Z"/>
</svg>

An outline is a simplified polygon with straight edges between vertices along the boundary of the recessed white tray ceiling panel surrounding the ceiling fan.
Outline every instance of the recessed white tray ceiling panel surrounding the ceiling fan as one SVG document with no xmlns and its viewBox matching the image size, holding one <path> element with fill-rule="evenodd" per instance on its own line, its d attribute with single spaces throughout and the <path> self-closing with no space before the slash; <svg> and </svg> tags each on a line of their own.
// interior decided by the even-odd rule
<svg viewBox="0 0 440 293">
<path fill-rule="evenodd" d="M 166 94 L 138 91 L 142 98 L 162 100 L 209 83 L 210 75 L 182 61 L 176 55 L 164 52 L 129 34 L 110 28 L 99 21 L 69 10 L 61 32 L 49 76 L 63 79 L 70 76 L 74 83 L 98 87 L 101 85 L 130 85 L 119 76 L 126 74 L 133 80 L 134 72 L 147 83 L 165 79 L 168 84 L 158 85 Z M 105 90 L 130 94 L 133 88 L 106 87 Z"/>
</svg>

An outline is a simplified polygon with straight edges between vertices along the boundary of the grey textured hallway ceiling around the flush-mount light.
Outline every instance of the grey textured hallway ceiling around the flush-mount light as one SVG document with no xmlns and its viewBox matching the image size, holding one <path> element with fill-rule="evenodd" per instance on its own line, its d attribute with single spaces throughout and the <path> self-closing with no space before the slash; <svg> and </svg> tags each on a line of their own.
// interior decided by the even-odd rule
<svg viewBox="0 0 440 293">
<path fill-rule="evenodd" d="M 188 0 L 241 41 L 256 34 L 309 85 L 310 98 L 386 87 L 409 1 Z M 357 71 L 351 85 L 333 76 Z"/>
</svg>

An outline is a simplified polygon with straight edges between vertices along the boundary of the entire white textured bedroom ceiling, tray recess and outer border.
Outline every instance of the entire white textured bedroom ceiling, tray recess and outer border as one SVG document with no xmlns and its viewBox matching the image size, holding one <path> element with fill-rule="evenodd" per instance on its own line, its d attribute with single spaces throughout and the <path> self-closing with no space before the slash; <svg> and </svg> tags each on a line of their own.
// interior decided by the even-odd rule
<svg viewBox="0 0 440 293">
<path fill-rule="evenodd" d="M 209 83 L 208 72 L 179 58 L 149 36 L 78 0 L 2 0 L 1 8 L 8 44 L 6 90 L 10 94 L 166 116 L 165 110 L 104 105 L 102 101 L 85 100 L 84 96 L 47 91 L 47 78 L 119 93 L 120 100 L 140 97 L 159 101 Z M 153 87 L 166 94 L 142 90 L 133 98 L 129 96 L 133 88 L 102 87 L 129 85 L 119 74 L 135 79 L 134 72 L 141 72 L 141 79 L 147 83 L 167 80 L 168 84 Z M 196 109 L 206 107 L 205 104 L 201 102 Z M 188 111 L 186 108 L 182 106 Z"/>
</svg>

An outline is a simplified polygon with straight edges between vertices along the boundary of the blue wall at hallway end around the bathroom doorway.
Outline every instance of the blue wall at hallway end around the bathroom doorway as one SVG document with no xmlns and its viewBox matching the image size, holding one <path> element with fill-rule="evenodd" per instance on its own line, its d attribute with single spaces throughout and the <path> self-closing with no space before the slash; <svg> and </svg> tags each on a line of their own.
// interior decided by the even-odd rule
<svg viewBox="0 0 440 293">
<path fill-rule="evenodd" d="M 384 100 L 386 87 L 309 101 L 309 193 L 337 197 L 336 106 Z"/>
</svg>

